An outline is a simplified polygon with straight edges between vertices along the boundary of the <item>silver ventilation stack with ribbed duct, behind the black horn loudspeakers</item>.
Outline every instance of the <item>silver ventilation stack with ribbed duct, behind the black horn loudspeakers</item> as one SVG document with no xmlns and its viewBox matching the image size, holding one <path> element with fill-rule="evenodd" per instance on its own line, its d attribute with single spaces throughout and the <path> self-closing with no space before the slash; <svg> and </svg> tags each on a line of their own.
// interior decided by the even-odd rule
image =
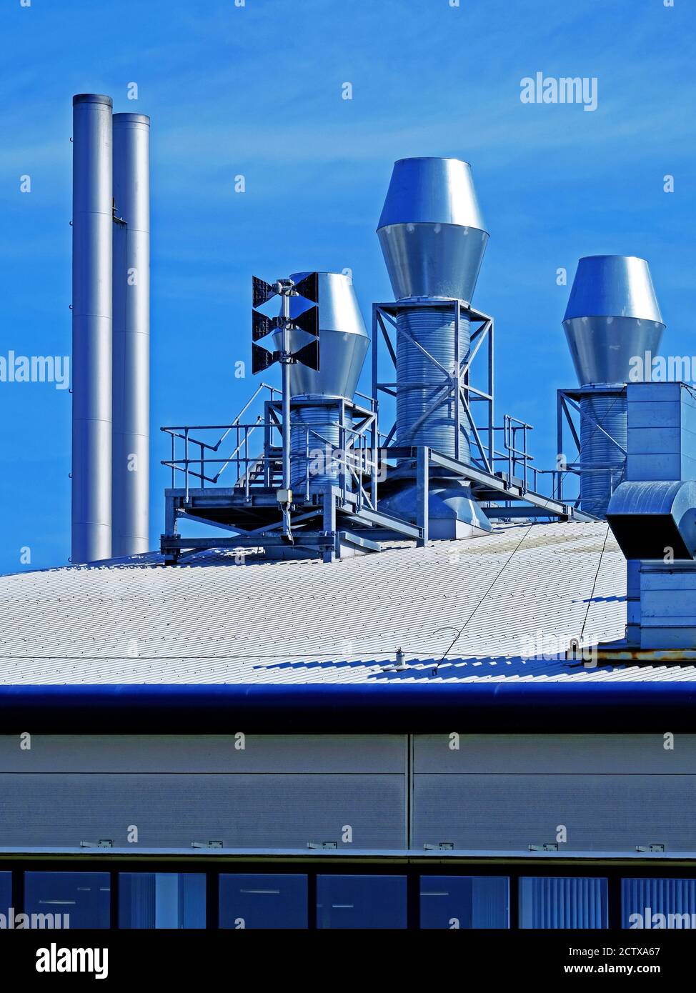
<svg viewBox="0 0 696 993">
<path fill-rule="evenodd" d="M 290 278 L 297 284 L 308 275 L 296 272 Z M 357 388 L 369 346 L 350 276 L 337 272 L 317 276 L 319 371 L 299 362 L 290 366 L 290 481 L 298 494 L 308 483 L 311 494 L 322 492 L 327 484 L 341 484 L 341 453 L 348 447 L 351 426 L 345 401 Z M 302 297 L 291 297 L 290 317 L 299 317 L 308 306 Z M 293 353 L 312 341 L 305 331 L 290 331 Z M 274 346 L 282 348 L 282 332 L 275 333 Z"/>
</svg>

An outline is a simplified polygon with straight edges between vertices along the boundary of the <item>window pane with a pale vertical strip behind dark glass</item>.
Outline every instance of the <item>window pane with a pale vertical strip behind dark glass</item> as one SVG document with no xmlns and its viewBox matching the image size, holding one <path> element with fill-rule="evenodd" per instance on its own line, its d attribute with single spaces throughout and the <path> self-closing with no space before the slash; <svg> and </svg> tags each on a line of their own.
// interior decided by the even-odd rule
<svg viewBox="0 0 696 993">
<path fill-rule="evenodd" d="M 118 926 L 205 927 L 204 873 L 122 872 L 118 874 Z"/>
</svg>

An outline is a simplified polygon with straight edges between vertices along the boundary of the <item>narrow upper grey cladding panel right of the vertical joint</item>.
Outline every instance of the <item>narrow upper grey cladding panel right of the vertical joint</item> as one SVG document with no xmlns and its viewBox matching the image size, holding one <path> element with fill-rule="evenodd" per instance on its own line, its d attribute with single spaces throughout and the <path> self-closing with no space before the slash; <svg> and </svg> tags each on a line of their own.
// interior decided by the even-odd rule
<svg viewBox="0 0 696 993">
<path fill-rule="evenodd" d="M 416 774 L 688 774 L 696 770 L 696 734 L 665 750 L 652 735 L 414 735 Z"/>
</svg>

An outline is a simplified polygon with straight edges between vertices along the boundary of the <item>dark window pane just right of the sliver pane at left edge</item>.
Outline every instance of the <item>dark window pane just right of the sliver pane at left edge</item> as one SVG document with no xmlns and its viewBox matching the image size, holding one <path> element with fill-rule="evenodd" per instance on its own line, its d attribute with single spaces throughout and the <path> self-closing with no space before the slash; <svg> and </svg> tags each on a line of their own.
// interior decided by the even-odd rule
<svg viewBox="0 0 696 993">
<path fill-rule="evenodd" d="M 108 927 L 107 872 L 28 872 L 24 874 L 26 914 L 62 915 L 61 927 Z M 68 915 L 69 922 L 66 922 Z"/>
</svg>

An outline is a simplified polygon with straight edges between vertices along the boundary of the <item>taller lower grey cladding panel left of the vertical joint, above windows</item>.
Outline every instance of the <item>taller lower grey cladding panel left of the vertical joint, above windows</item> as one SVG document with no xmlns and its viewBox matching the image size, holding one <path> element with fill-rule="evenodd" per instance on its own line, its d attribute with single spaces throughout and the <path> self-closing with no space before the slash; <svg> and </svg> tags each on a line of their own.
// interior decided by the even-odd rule
<svg viewBox="0 0 696 993">
<path fill-rule="evenodd" d="M 396 775 L 0 775 L 0 847 L 127 843 L 145 848 L 405 847 L 405 783 Z M 133 852 L 137 845 L 132 845 Z"/>
</svg>

